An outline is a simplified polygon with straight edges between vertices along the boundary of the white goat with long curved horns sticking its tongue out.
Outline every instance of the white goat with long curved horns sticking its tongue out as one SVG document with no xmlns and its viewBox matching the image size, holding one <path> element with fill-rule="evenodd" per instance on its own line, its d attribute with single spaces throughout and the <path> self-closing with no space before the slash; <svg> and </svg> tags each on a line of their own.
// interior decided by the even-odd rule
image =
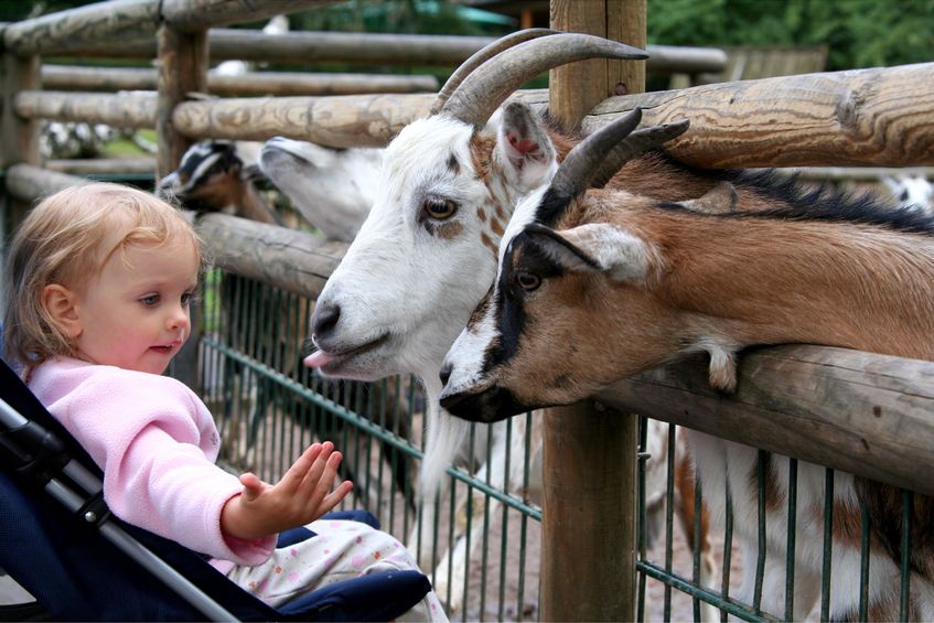
<svg viewBox="0 0 934 623">
<path fill-rule="evenodd" d="M 547 36 L 515 47 L 508 47 L 516 41 L 509 37 L 477 53 L 442 88 L 432 116 L 410 123 L 393 140 L 384 155 L 374 206 L 319 297 L 312 321 L 319 351 L 305 363 L 325 375 L 420 376 L 428 395 L 421 472 L 428 493 L 455 462 L 466 432 L 462 422 L 437 410 L 443 356 L 493 282 L 497 244 L 515 204 L 550 178 L 555 152 L 563 154 L 572 142 L 545 127 L 522 104 L 511 103 L 495 116 L 494 110 L 515 88 L 551 66 L 592 56 L 644 57 L 625 45 L 588 35 L 524 31 L 516 36 L 541 34 Z M 667 131 L 633 149 L 648 149 L 679 130 Z M 654 154 L 633 161 L 612 183 L 649 194 L 675 187 L 684 193 L 679 198 L 689 198 L 717 180 L 694 175 Z M 743 208 L 748 201 L 755 198 L 740 196 Z M 502 429 L 492 434 L 497 440 L 505 437 Z M 515 433 L 513 439 L 520 451 L 522 440 Z M 679 469 L 688 469 L 685 459 L 679 458 Z M 504 463 L 494 462 L 483 465 L 477 477 L 495 470 L 494 484 L 508 483 L 517 491 L 523 462 L 514 459 L 509 464 L 512 474 L 503 474 Z M 693 496 L 684 498 L 686 513 L 693 513 Z M 482 529 L 476 524 L 474 529 Z M 693 520 L 683 524 L 689 526 L 691 537 Z M 707 581 L 713 574 L 709 541 L 705 535 L 697 538 L 705 551 Z M 472 545 L 480 541 L 477 535 L 470 539 Z M 417 549 L 415 535 L 409 545 Z M 465 547 L 462 539 L 453 556 L 463 560 Z M 434 588 L 441 595 L 449 593 L 448 562 L 442 560 L 436 573 Z M 450 595 L 454 609 L 463 572 L 462 565 L 452 569 L 451 584 L 458 590 Z"/>
</svg>

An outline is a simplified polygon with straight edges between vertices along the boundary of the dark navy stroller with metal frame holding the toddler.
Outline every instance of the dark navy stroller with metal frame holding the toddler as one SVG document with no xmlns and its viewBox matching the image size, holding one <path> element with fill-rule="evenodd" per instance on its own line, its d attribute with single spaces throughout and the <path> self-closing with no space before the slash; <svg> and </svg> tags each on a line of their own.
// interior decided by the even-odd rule
<svg viewBox="0 0 934 623">
<path fill-rule="evenodd" d="M 388 621 L 431 588 L 418 571 L 374 573 L 272 609 L 202 555 L 110 516 L 100 471 L 2 361 L 0 398 L 0 568 L 52 619 Z M 365 512 L 329 517 L 378 526 Z M 279 544 L 302 538 L 313 534 L 290 530 Z M 4 620 L 32 614 L 0 608 Z"/>
</svg>

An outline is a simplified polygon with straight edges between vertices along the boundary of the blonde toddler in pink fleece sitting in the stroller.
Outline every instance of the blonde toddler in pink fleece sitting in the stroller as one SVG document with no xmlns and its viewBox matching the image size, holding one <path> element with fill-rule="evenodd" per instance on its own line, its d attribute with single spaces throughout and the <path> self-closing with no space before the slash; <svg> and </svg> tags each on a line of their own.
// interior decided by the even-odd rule
<svg viewBox="0 0 934 623">
<path fill-rule="evenodd" d="M 275 485 L 215 465 L 211 413 L 162 376 L 190 335 L 202 261 L 187 221 L 151 194 L 108 183 L 61 191 L 30 212 L 11 245 L 6 355 L 104 470 L 115 515 L 210 555 L 270 605 L 416 568 L 385 533 L 318 520 L 353 486 L 334 488 L 341 453 L 330 441 L 312 444 Z M 304 525 L 318 536 L 276 549 L 278 533 Z M 405 619 L 447 620 L 433 592 Z"/>
</svg>

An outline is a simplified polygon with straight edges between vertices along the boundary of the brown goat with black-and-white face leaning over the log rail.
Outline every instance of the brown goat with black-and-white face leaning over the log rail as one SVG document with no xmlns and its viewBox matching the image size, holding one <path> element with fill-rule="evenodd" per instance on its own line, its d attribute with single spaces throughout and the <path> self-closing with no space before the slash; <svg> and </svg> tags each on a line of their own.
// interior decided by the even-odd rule
<svg viewBox="0 0 934 623">
<path fill-rule="evenodd" d="M 495 421 L 575 402 L 612 382 L 691 352 L 710 355 L 712 386 L 736 386 L 736 353 L 749 345 L 812 343 L 934 361 L 934 221 L 868 198 L 806 193 L 788 182 L 737 174 L 696 202 L 659 202 L 601 186 L 627 129 L 605 127 L 532 193 L 501 241 L 493 291 L 448 354 L 441 404 Z M 608 158 L 608 153 L 611 155 Z M 774 210 L 736 214 L 741 186 Z M 719 208 L 717 207 L 719 206 Z M 699 214 L 696 210 L 711 214 Z M 803 260 L 803 258 L 806 258 Z M 569 347 L 572 345 L 572 347 Z M 710 508 L 727 491 L 743 545 L 738 598 L 752 603 L 758 555 L 756 466 L 766 517 L 762 609 L 785 603 L 787 459 L 689 430 Z M 824 469 L 797 477 L 793 620 L 820 589 Z M 834 497 L 830 619 L 857 620 L 859 503 L 873 517 L 868 613 L 899 616 L 901 495 L 838 472 Z M 934 500 L 915 494 L 910 620 L 934 619 Z"/>
</svg>

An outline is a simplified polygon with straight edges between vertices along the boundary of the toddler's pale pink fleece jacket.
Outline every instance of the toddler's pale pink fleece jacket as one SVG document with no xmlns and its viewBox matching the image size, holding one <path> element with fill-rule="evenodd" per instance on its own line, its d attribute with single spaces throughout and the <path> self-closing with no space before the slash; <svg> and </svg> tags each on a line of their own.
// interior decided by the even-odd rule
<svg viewBox="0 0 934 623">
<path fill-rule="evenodd" d="M 221 509 L 243 491 L 214 464 L 221 438 L 198 397 L 165 376 L 71 358 L 43 363 L 29 387 L 104 470 L 104 498 L 129 524 L 233 566 L 265 562 L 276 537 L 225 538 Z"/>
</svg>

